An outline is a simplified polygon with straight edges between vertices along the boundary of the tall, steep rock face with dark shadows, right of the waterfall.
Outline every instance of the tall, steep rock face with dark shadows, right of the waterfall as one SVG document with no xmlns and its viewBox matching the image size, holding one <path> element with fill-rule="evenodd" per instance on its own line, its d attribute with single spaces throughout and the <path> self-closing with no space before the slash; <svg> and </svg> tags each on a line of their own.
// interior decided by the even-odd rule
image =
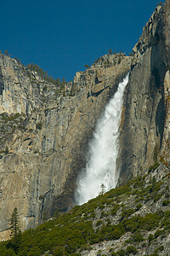
<svg viewBox="0 0 170 256">
<path fill-rule="evenodd" d="M 134 56 L 123 108 L 121 180 L 144 173 L 169 143 L 170 1 L 144 26 Z"/>
</svg>

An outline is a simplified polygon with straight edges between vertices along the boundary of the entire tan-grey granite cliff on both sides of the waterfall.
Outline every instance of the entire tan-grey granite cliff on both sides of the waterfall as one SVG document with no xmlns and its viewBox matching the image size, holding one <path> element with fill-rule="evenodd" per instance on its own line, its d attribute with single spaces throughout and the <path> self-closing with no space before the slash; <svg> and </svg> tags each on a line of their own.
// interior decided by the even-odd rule
<svg viewBox="0 0 170 256">
<path fill-rule="evenodd" d="M 144 174 L 168 150 L 170 1 L 144 26 L 133 57 L 104 55 L 65 96 L 37 73 L 0 55 L 0 238 L 18 207 L 22 230 L 71 207 L 94 126 L 130 71 L 122 109 L 120 183 Z M 117 171 L 118 172 L 118 171 Z"/>
</svg>

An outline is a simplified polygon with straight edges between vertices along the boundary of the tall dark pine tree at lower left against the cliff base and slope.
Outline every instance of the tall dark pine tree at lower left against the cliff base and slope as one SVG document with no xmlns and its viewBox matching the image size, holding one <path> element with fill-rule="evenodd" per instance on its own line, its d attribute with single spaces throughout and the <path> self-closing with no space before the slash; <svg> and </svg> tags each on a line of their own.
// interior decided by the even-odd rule
<svg viewBox="0 0 170 256">
<path fill-rule="evenodd" d="M 12 213 L 10 219 L 10 230 L 11 230 L 11 238 L 14 238 L 14 241 L 19 241 L 20 238 L 20 220 L 19 213 L 17 207 L 14 208 L 14 212 Z"/>
</svg>

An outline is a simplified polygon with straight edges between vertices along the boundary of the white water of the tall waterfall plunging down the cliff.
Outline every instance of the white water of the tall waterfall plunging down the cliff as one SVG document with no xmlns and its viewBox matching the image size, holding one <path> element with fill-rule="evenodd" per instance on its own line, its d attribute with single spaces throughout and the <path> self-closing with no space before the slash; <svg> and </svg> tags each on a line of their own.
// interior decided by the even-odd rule
<svg viewBox="0 0 170 256">
<path fill-rule="evenodd" d="M 89 143 L 88 163 L 77 179 L 75 201 L 82 205 L 101 192 L 116 187 L 116 158 L 118 154 L 119 125 L 122 114 L 123 92 L 128 82 L 127 77 L 118 85 L 117 91 L 105 107 L 105 113 L 94 131 L 94 138 Z"/>
</svg>

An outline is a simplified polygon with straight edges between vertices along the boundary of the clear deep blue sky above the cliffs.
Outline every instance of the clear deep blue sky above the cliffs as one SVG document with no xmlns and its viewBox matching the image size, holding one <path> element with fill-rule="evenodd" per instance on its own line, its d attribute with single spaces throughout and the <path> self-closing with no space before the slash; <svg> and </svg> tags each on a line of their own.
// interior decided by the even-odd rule
<svg viewBox="0 0 170 256">
<path fill-rule="evenodd" d="M 110 48 L 128 55 L 158 2 L 0 0 L 0 49 L 69 81 Z"/>
</svg>

